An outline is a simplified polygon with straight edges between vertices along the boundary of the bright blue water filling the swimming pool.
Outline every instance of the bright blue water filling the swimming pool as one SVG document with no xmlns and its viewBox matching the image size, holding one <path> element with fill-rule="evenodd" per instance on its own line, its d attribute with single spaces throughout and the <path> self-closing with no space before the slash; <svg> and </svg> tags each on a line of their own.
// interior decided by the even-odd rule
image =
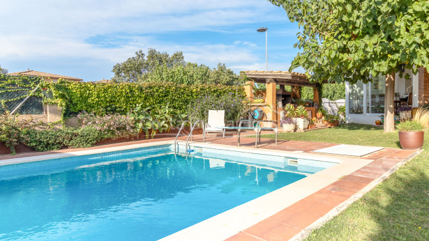
<svg viewBox="0 0 429 241">
<path fill-rule="evenodd" d="M 0 166 L 0 239 L 157 240 L 306 177 L 169 146 Z"/>
</svg>

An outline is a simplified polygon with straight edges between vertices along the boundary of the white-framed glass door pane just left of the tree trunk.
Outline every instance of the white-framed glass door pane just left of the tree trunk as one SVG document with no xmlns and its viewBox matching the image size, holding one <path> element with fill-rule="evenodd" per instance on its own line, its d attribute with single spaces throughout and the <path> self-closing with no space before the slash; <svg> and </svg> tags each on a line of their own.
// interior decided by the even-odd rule
<svg viewBox="0 0 429 241">
<path fill-rule="evenodd" d="M 386 93 L 386 77 L 372 77 L 372 82 L 366 86 L 366 113 L 384 113 L 384 93 Z"/>
</svg>

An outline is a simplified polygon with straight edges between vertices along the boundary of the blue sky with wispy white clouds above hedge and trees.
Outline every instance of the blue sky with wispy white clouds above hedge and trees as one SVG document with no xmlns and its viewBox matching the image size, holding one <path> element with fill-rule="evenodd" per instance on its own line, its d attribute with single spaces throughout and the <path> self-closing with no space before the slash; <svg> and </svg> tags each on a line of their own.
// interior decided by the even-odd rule
<svg viewBox="0 0 429 241">
<path fill-rule="evenodd" d="M 9 72 L 110 79 L 116 63 L 148 48 L 236 73 L 265 70 L 260 26 L 268 28 L 269 70 L 287 70 L 298 52 L 297 24 L 265 0 L 24 0 L 2 8 L 0 65 Z"/>
</svg>

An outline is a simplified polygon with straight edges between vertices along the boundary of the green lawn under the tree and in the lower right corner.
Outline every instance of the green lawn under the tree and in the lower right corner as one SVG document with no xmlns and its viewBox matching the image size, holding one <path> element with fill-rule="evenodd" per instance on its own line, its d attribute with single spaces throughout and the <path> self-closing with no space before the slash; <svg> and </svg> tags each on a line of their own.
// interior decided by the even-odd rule
<svg viewBox="0 0 429 241">
<path fill-rule="evenodd" d="M 273 135 L 264 137 L 273 138 Z M 279 139 L 398 147 L 398 133 L 384 134 L 370 125 L 304 133 L 282 133 Z M 377 185 L 307 240 L 429 240 L 429 134 L 426 150 Z"/>
</svg>

